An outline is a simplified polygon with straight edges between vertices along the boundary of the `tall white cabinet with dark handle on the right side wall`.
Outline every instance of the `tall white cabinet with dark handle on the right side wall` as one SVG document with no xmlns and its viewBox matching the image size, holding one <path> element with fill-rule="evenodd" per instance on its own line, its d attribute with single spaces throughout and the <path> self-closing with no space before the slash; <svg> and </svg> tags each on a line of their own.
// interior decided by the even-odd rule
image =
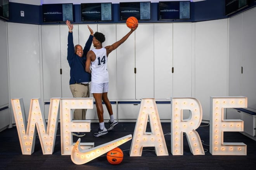
<svg viewBox="0 0 256 170">
<path fill-rule="evenodd" d="M 256 8 L 230 18 L 229 95 L 246 96 L 256 109 Z"/>
</svg>

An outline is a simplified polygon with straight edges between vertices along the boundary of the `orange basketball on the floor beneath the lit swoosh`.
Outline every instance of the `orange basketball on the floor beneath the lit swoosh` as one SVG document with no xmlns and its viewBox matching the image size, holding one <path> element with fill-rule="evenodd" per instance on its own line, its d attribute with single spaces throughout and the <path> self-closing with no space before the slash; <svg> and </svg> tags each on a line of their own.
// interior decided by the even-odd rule
<svg viewBox="0 0 256 170">
<path fill-rule="evenodd" d="M 120 148 L 114 148 L 107 153 L 107 161 L 112 165 L 117 165 L 123 160 L 123 151 Z"/>
</svg>

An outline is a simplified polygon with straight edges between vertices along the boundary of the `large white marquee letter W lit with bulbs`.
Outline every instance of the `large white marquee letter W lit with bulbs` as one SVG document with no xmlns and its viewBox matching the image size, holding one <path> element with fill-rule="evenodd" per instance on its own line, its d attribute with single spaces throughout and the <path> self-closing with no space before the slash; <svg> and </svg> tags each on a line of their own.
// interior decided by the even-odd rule
<svg viewBox="0 0 256 170">
<path fill-rule="evenodd" d="M 19 134 L 22 154 L 31 155 L 34 152 L 36 129 L 43 154 L 52 154 L 54 151 L 58 127 L 60 98 L 50 100 L 50 110 L 47 125 L 45 122 L 45 115 L 41 110 L 42 107 L 40 99 L 31 99 L 28 122 L 22 98 L 11 99 L 11 102 L 17 131 Z"/>
</svg>

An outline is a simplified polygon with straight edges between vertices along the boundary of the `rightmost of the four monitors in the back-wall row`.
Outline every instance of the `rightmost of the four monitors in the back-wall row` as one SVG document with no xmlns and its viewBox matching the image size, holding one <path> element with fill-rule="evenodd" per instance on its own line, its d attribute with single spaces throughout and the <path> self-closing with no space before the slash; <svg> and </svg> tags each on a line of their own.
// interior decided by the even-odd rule
<svg viewBox="0 0 256 170">
<path fill-rule="evenodd" d="M 160 1 L 159 20 L 190 19 L 190 1 Z"/>
</svg>

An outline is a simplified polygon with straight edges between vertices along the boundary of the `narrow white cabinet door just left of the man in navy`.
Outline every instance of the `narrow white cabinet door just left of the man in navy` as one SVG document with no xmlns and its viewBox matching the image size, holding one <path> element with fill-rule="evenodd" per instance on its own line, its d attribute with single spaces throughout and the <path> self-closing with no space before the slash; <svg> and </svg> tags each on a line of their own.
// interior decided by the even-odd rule
<svg viewBox="0 0 256 170">
<path fill-rule="evenodd" d="M 61 95 L 60 26 L 42 26 L 44 101 Z"/>
</svg>

